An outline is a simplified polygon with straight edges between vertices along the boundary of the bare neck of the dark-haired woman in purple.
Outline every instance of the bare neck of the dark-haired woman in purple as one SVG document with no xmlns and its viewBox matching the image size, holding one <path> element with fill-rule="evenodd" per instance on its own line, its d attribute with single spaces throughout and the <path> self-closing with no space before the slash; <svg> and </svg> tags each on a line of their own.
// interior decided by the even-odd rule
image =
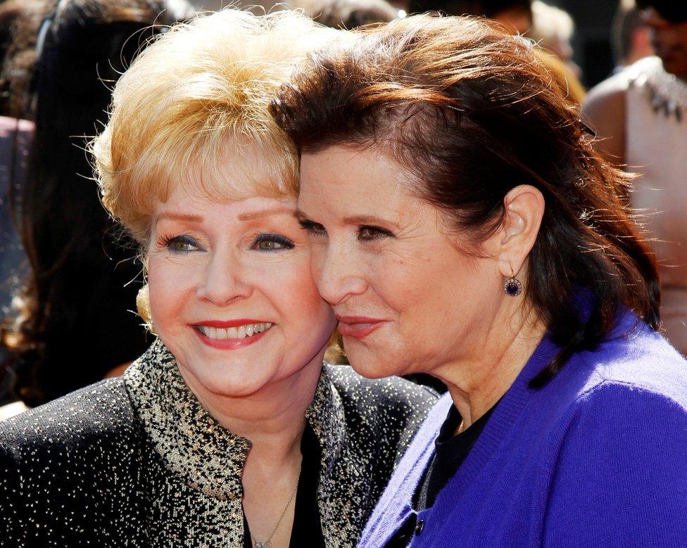
<svg viewBox="0 0 687 548">
<path fill-rule="evenodd" d="M 446 383 L 462 416 L 458 432 L 469 428 L 500 400 L 546 333 L 546 325 L 534 308 L 522 305 L 500 311 L 491 325 L 489 333 L 472 345 L 474 352 L 432 372 Z"/>
</svg>

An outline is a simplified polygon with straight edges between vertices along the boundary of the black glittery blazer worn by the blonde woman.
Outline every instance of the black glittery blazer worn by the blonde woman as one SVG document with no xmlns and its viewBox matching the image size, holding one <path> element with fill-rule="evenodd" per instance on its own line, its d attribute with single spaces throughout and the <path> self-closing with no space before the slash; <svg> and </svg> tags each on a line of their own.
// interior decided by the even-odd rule
<svg viewBox="0 0 687 548">
<path fill-rule="evenodd" d="M 327 547 L 355 545 L 435 401 L 400 378 L 324 366 L 305 417 Z M 0 423 L 0 545 L 241 547 L 250 446 L 208 414 L 158 340 L 123 377 Z"/>
</svg>

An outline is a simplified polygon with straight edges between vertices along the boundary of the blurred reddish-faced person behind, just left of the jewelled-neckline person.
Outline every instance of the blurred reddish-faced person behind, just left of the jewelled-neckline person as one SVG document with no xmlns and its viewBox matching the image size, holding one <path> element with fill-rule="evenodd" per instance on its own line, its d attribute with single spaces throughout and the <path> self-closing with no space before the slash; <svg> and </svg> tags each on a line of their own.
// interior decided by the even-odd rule
<svg viewBox="0 0 687 548">
<path fill-rule="evenodd" d="M 651 32 L 634 0 L 620 1 L 613 18 L 611 46 L 616 65 L 614 73 L 654 54 Z"/>
</svg>

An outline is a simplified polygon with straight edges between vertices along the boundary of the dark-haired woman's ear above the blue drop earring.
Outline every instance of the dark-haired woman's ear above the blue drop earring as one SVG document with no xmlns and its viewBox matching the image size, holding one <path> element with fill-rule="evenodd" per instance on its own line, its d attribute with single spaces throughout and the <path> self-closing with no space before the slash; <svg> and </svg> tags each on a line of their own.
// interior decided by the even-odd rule
<svg viewBox="0 0 687 548">
<path fill-rule="evenodd" d="M 542 193 L 529 184 L 516 186 L 503 198 L 505 215 L 495 234 L 502 276 L 517 276 L 522 269 L 539 234 L 544 207 Z"/>
</svg>

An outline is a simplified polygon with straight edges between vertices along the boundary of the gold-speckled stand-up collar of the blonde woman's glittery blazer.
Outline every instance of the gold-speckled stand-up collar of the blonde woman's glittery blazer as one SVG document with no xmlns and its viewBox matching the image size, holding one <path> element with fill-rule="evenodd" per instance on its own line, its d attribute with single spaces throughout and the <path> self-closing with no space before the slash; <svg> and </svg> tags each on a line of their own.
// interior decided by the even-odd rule
<svg viewBox="0 0 687 548">
<path fill-rule="evenodd" d="M 251 442 L 220 425 L 189 390 L 161 340 L 124 374 L 134 409 L 165 466 L 191 488 L 218 499 L 241 499 L 241 474 Z M 343 405 L 327 367 L 305 412 L 331 471 L 346 439 Z"/>
</svg>

